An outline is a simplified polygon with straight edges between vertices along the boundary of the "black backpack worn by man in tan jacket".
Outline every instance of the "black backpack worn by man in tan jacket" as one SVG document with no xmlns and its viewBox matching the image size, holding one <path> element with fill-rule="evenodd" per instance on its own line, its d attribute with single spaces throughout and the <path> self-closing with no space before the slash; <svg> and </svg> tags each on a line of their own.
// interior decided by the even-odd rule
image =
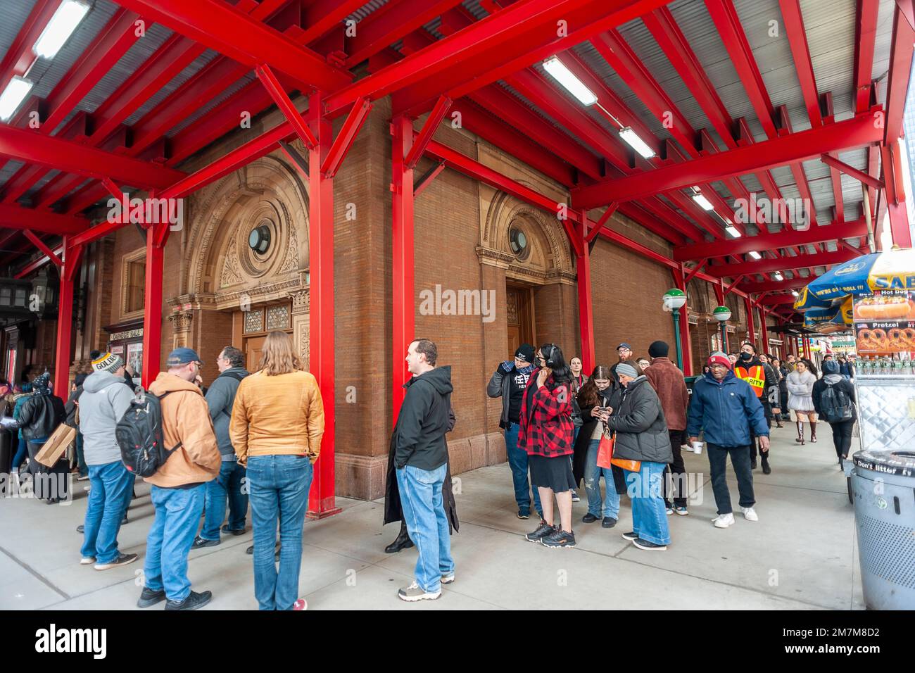
<svg viewBox="0 0 915 673">
<path fill-rule="evenodd" d="M 156 396 L 141 388 L 114 429 L 124 467 L 137 476 L 153 476 L 181 446 L 179 441 L 166 449 L 162 439 L 161 400 L 168 394 Z"/>
</svg>

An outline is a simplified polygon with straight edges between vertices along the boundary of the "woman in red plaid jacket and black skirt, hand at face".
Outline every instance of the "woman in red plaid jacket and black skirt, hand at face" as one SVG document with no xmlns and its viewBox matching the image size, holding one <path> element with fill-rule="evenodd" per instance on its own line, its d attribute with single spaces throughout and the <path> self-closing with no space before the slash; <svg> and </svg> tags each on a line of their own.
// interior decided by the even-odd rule
<svg viewBox="0 0 915 673">
<path fill-rule="evenodd" d="M 529 542 L 545 547 L 575 547 L 572 530 L 573 435 L 572 373 L 563 352 L 554 343 L 537 351 L 540 366 L 533 370 L 524 391 L 518 432 L 518 448 L 528 453 L 531 482 L 539 489 L 544 518 Z M 559 505 L 560 526 L 554 526 L 553 495 Z"/>
</svg>

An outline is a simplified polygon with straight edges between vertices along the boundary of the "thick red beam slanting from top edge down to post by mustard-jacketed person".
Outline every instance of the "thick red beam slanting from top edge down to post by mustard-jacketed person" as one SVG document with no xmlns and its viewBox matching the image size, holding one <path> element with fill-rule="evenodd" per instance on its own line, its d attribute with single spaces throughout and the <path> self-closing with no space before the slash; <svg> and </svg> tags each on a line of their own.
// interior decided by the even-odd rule
<svg viewBox="0 0 915 673">
<path fill-rule="evenodd" d="M 330 67 L 314 51 L 221 0 L 118 0 L 118 4 L 252 70 L 267 63 L 306 91 L 312 87 L 337 91 L 351 81 L 349 73 Z"/>
</svg>

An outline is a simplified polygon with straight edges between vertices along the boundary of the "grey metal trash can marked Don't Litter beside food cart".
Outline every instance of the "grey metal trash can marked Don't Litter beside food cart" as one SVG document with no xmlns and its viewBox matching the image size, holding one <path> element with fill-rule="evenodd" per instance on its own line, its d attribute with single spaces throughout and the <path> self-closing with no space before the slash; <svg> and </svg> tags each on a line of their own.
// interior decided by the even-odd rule
<svg viewBox="0 0 915 673">
<path fill-rule="evenodd" d="M 871 610 L 915 610 L 915 450 L 852 460 L 861 586 Z"/>
</svg>

